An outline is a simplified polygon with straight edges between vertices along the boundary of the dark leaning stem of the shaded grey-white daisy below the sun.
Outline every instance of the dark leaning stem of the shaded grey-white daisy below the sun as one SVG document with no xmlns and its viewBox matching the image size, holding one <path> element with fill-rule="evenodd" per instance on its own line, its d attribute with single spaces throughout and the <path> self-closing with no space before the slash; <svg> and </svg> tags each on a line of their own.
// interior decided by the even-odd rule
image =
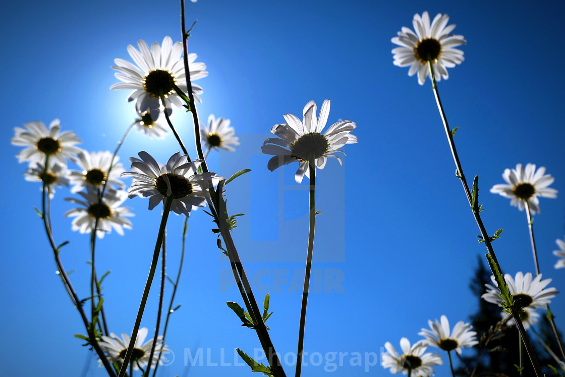
<svg viewBox="0 0 565 377">
<path fill-rule="evenodd" d="M 129 361 L 132 358 L 133 348 L 136 344 L 137 332 L 140 330 L 141 318 L 143 317 L 145 304 L 147 303 L 147 297 L 149 297 L 151 283 L 153 283 L 153 278 L 155 276 L 155 269 L 157 269 L 157 263 L 159 262 L 159 252 L 161 250 L 161 246 L 163 245 L 163 237 L 165 234 L 165 228 L 167 227 L 167 219 L 169 212 L 171 211 L 172 202 L 173 197 L 168 196 L 163 208 L 163 217 L 161 219 L 161 225 L 159 227 L 159 234 L 157 235 L 157 242 L 155 242 L 155 250 L 153 252 L 151 267 L 149 268 L 149 275 L 147 276 L 147 282 L 145 283 L 145 289 L 143 291 L 143 296 L 141 297 L 140 309 L 137 311 L 136 322 L 133 325 L 133 331 L 131 339 L 129 340 L 128 350 L 125 352 L 124 361 L 121 364 L 118 377 L 123 377 L 125 375 L 125 372 L 128 369 Z"/>
</svg>

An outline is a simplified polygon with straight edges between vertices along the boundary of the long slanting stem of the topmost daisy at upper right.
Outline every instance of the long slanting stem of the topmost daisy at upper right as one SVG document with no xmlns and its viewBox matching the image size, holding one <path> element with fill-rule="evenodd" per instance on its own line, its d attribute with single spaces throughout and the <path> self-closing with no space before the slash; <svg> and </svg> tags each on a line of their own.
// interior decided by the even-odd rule
<svg viewBox="0 0 565 377">
<path fill-rule="evenodd" d="M 477 223 L 477 226 L 479 226 L 481 236 L 483 237 L 483 241 L 485 242 L 486 250 L 488 250 L 488 253 L 489 253 L 490 257 L 493 259 L 496 267 L 498 268 L 498 271 L 500 271 L 501 274 L 502 274 L 502 279 L 504 279 L 504 274 L 502 273 L 502 268 L 500 267 L 500 264 L 498 263 L 498 259 L 496 258 L 496 254 L 494 254 L 494 249 L 492 247 L 492 244 L 490 243 L 490 237 L 489 237 L 488 233 L 486 232 L 485 226 L 483 224 L 483 220 L 481 219 L 481 216 L 479 214 L 479 210 L 477 210 L 476 208 L 473 208 L 471 190 L 469 189 L 469 185 L 467 184 L 467 180 L 465 179 L 465 175 L 463 174 L 463 167 L 461 166 L 461 162 L 459 161 L 457 149 L 455 149 L 455 142 L 453 140 L 453 134 L 451 133 L 451 129 L 449 128 L 449 124 L 447 123 L 447 118 L 445 116 L 444 107 L 441 104 L 440 93 L 437 90 L 436 77 L 434 76 L 433 65 L 432 65 L 432 62 L 431 62 L 430 59 L 428 59 L 428 68 L 429 68 L 430 76 L 432 78 L 432 88 L 433 88 L 433 94 L 436 97 L 437 108 L 440 111 L 441 120 L 444 123 L 445 135 L 447 136 L 447 141 L 449 142 L 449 148 L 451 149 L 451 155 L 453 155 L 453 161 L 455 162 L 455 167 L 457 168 L 457 176 L 459 177 L 459 179 L 461 180 L 461 183 L 463 185 L 463 190 L 465 191 L 465 194 L 467 196 L 467 201 L 469 202 L 469 205 L 471 206 L 473 216 L 475 217 L 475 221 Z M 493 275 L 496 276 L 496 274 L 494 274 L 494 271 L 492 271 L 492 272 L 493 272 Z M 534 371 L 536 372 L 536 376 L 542 377 L 543 374 L 542 374 L 541 369 L 540 369 L 540 364 L 537 361 L 536 354 L 534 354 L 534 352 L 533 352 L 533 348 L 532 348 L 532 345 L 529 342 L 528 335 L 524 330 L 524 325 L 522 324 L 522 321 L 520 319 L 519 310 L 515 310 L 514 308 L 512 308 L 511 311 L 512 311 L 512 317 L 514 318 L 514 320 L 516 322 L 516 327 L 518 327 L 518 331 L 520 332 L 520 335 L 522 336 L 522 340 L 524 342 L 526 352 L 528 353 L 528 357 L 529 357 L 530 361 L 532 362 L 532 366 L 533 366 Z"/>
</svg>

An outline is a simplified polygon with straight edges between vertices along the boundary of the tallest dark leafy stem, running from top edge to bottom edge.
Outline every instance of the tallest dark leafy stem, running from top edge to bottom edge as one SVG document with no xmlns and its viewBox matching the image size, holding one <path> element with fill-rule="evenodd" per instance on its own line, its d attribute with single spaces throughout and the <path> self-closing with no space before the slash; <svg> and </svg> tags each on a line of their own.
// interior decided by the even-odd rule
<svg viewBox="0 0 565 377">
<path fill-rule="evenodd" d="M 200 132 L 200 123 L 198 121 L 198 112 L 196 109 L 196 106 L 194 104 L 194 96 L 192 93 L 192 84 L 190 82 L 190 70 L 189 70 L 189 66 L 188 66 L 188 34 L 186 32 L 186 27 L 185 27 L 185 10 L 184 10 L 184 0 L 180 0 L 180 5 L 181 5 L 181 32 L 182 32 L 182 49 L 184 51 L 183 53 L 183 59 L 184 59 L 184 66 L 185 66 L 185 77 L 186 77 L 186 87 L 187 89 L 187 94 L 189 97 L 189 101 L 190 101 L 190 112 L 192 112 L 192 118 L 193 118 L 193 123 L 194 123 L 194 137 L 195 137 L 195 144 L 196 144 L 196 150 L 197 150 L 197 154 L 198 154 L 198 158 L 202 160 L 202 172 L 203 173 L 207 173 L 208 170 L 208 166 L 206 163 L 206 159 L 205 159 L 205 155 L 204 152 L 202 150 L 202 140 L 201 140 L 201 132 Z M 243 287 L 240 287 L 240 293 L 242 298 L 244 298 L 247 310 L 249 311 L 250 315 L 255 319 L 255 323 L 257 323 L 257 325 L 255 326 L 255 331 L 257 331 L 257 335 L 259 337 L 259 341 L 263 347 L 263 350 L 267 356 L 267 359 L 269 361 L 269 364 L 271 365 L 272 371 L 273 371 L 273 375 L 275 377 L 286 377 L 286 374 L 284 372 L 284 370 L 282 369 L 281 363 L 279 361 L 279 357 L 277 356 L 277 353 L 275 351 L 275 346 L 273 346 L 273 343 L 271 341 L 271 337 L 269 336 L 269 333 L 267 332 L 267 327 L 265 325 L 265 323 L 263 322 L 263 317 L 261 314 L 261 311 L 259 310 L 259 306 L 257 305 L 257 300 L 255 300 L 255 296 L 253 294 L 253 291 L 251 290 L 251 285 L 249 284 L 249 279 L 247 279 L 247 275 L 245 273 L 244 268 L 241 265 L 241 260 L 240 257 L 237 253 L 237 249 L 236 246 L 234 245 L 233 239 L 232 239 L 232 235 L 231 235 L 231 231 L 228 227 L 228 223 L 227 223 L 227 211 L 225 210 L 225 202 L 223 201 L 222 196 L 222 190 L 221 187 L 223 187 L 223 185 L 219 185 L 218 186 L 218 193 L 219 193 L 219 203 L 215 203 L 213 201 L 210 201 L 210 203 L 212 203 L 212 206 L 210 206 L 210 209 L 212 210 L 212 207 L 217 208 L 217 211 L 212 211 L 212 214 L 214 215 L 218 215 L 218 224 L 219 224 L 219 229 L 220 229 L 220 233 L 221 236 L 224 240 L 224 243 L 226 245 L 226 248 L 228 250 L 228 257 L 230 259 L 230 263 L 232 263 L 232 265 L 236 266 L 236 270 L 238 275 L 240 275 L 239 277 L 241 278 L 241 282 Z M 214 197 L 214 189 L 213 187 L 210 187 L 210 195 L 211 197 Z M 224 206 L 224 209 L 222 209 L 222 204 Z M 214 213 L 215 212 L 215 213 Z M 232 267 L 233 268 L 233 267 Z M 236 281 L 238 280 L 237 276 L 234 276 L 236 278 Z M 243 288 L 243 289 L 242 289 Z M 247 296 L 247 297 L 246 297 Z M 121 376 L 120 376 L 121 377 Z"/>
</svg>

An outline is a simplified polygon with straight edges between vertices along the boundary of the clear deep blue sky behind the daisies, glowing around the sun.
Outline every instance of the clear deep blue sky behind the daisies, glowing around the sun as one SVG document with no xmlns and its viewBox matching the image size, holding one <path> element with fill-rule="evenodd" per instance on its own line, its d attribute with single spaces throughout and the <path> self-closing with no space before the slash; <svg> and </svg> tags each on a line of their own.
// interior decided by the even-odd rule
<svg viewBox="0 0 565 377">
<path fill-rule="evenodd" d="M 188 3 L 188 24 L 198 19 L 190 52 L 205 62 L 210 75 L 197 83 L 204 89 L 198 106 L 208 114 L 231 119 L 242 142 L 236 153 L 211 153 L 212 170 L 229 176 L 252 171 L 228 187 L 231 213 L 245 213 L 234 239 L 257 296 L 271 294 L 271 337 L 279 352 L 295 352 L 301 293 L 296 289 L 307 244 L 306 180 L 294 182 L 297 166 L 267 170 L 260 146 L 283 114 L 300 115 L 314 99 L 331 99 L 328 123 L 357 123 L 359 143 L 347 145 L 344 166 L 329 161 L 319 172 L 318 216 L 314 249 L 314 292 L 308 302 L 305 350 L 326 355 L 345 353 L 344 366 L 333 375 L 389 375 L 388 370 L 351 366 L 358 352 L 380 354 L 386 341 L 398 349 L 401 337 L 415 342 L 428 319 L 447 315 L 452 325 L 468 320 L 476 298 L 468 284 L 477 255 L 477 227 L 468 209 L 445 140 L 429 81 L 418 85 L 407 68 L 392 64 L 390 38 L 412 16 L 450 15 L 455 33 L 463 34 L 465 61 L 438 84 L 468 179 L 480 176 L 483 220 L 489 232 L 503 228 L 494 242 L 505 272 L 533 272 L 525 213 L 509 200 L 490 194 L 503 183 L 505 168 L 516 163 L 545 166 L 555 176 L 557 199 L 541 199 L 534 228 L 544 277 L 565 287 L 565 271 L 555 270 L 555 239 L 565 233 L 565 149 L 560 74 L 565 52 L 563 3 L 544 7 L 527 2 L 354 1 L 205 1 Z M 7 375 L 104 375 L 89 361 L 86 348 L 73 337 L 84 333 L 80 318 L 54 274 L 55 265 L 41 222 L 38 184 L 24 181 L 20 150 L 9 144 L 14 127 L 34 120 L 59 118 L 64 130 L 82 139 L 86 150 L 113 150 L 134 119 L 127 90 L 110 91 L 118 82 L 115 58 L 131 61 L 127 45 L 138 39 L 180 40 L 177 2 L 141 1 L 11 2 L 0 15 L 3 35 L 2 83 L 5 105 L 2 157 L 7 166 L 5 198 L 0 203 L 5 241 L 0 268 L 0 319 L 3 371 Z M 18 89 L 18 90 L 15 90 Z M 173 122 L 192 145 L 192 120 L 176 109 Z M 149 140 L 133 132 L 120 150 L 120 161 L 146 150 L 161 162 L 179 150 L 172 135 Z M 194 146 L 189 148 L 195 155 Z M 57 190 L 53 201 L 55 238 L 69 240 L 62 253 L 81 297 L 88 294 L 89 237 L 71 231 L 63 218 L 71 194 Z M 147 211 L 147 200 L 126 204 L 136 215 L 132 231 L 98 242 L 98 271 L 112 270 L 105 283 L 110 330 L 130 332 L 153 252 L 160 220 Z M 176 273 L 182 218 L 169 220 L 168 271 Z M 215 247 L 210 218 L 190 217 L 189 248 L 172 316 L 167 344 L 175 361 L 162 376 L 249 375 L 233 356 L 236 347 L 253 354 L 254 332 L 242 328 L 226 301 L 241 301 Z M 316 275 L 317 274 L 317 275 Z M 318 277 L 316 277 L 318 276 Z M 157 285 L 142 326 L 154 327 Z M 317 289 L 317 291 L 316 291 Z M 167 292 L 170 292 L 167 287 Z M 552 303 L 557 324 L 565 328 L 563 297 Z M 184 366 L 186 349 L 210 350 L 210 361 L 232 366 Z M 447 359 L 444 357 L 444 362 Z M 308 360 L 310 361 L 310 360 Z M 316 357 L 313 359 L 316 363 Z M 338 360 L 336 361 L 338 362 Z M 306 366 L 305 374 L 325 374 L 325 360 Z M 330 369 L 332 369 L 330 367 Z M 292 374 L 293 367 L 286 367 Z M 449 373 L 446 365 L 437 375 Z"/>
</svg>

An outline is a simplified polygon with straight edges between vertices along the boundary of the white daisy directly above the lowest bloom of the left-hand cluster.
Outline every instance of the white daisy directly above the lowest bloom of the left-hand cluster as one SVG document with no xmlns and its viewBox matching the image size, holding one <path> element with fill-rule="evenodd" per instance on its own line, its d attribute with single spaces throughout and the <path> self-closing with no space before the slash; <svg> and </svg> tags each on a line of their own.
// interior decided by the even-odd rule
<svg viewBox="0 0 565 377">
<path fill-rule="evenodd" d="M 102 188 L 107 182 L 114 184 L 119 188 L 123 188 L 125 184 L 120 180 L 120 174 L 124 171 L 124 167 L 118 162 L 120 158 L 114 157 L 114 165 L 110 170 L 112 163 L 112 153 L 110 151 L 90 152 L 82 151 L 76 162 L 81 171 L 71 171 L 72 193 L 85 189 L 88 185 L 96 188 Z M 108 174 L 110 170 L 110 174 Z"/>
</svg>

